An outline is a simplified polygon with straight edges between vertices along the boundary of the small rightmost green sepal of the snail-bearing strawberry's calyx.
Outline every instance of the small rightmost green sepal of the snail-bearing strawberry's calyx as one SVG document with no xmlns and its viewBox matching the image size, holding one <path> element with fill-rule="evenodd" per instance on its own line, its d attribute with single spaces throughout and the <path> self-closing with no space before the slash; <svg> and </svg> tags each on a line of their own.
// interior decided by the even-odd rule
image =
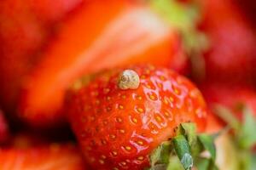
<svg viewBox="0 0 256 170">
<path fill-rule="evenodd" d="M 214 140 L 212 136 L 209 136 L 207 134 L 200 134 L 198 136 L 198 139 L 201 141 L 201 144 L 203 145 L 204 149 L 209 151 L 212 161 L 215 161 L 216 159 L 216 147 L 214 144 Z"/>
</svg>

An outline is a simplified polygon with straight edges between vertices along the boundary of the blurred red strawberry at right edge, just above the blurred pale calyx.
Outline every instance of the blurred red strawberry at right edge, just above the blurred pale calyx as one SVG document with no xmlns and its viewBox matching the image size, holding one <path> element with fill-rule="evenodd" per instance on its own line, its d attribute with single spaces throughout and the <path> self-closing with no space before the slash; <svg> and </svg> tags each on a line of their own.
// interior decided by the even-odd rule
<svg viewBox="0 0 256 170">
<path fill-rule="evenodd" d="M 256 116 L 256 91 L 253 88 L 207 83 L 201 86 L 201 92 L 212 109 L 216 104 L 223 105 L 241 118 L 241 105 L 247 105 Z"/>
</svg>

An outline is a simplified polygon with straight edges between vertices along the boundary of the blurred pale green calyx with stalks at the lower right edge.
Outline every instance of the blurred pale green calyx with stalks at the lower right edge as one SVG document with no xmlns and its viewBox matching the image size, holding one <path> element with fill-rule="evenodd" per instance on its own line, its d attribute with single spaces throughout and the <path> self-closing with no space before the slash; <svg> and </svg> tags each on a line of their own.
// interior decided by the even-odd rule
<svg viewBox="0 0 256 170">
<path fill-rule="evenodd" d="M 256 153 L 256 120 L 253 111 L 247 105 L 241 105 L 242 122 L 240 122 L 228 108 L 215 105 L 215 113 L 228 124 L 228 133 L 233 152 L 236 154 L 237 169 L 253 170 L 255 168 Z"/>
</svg>

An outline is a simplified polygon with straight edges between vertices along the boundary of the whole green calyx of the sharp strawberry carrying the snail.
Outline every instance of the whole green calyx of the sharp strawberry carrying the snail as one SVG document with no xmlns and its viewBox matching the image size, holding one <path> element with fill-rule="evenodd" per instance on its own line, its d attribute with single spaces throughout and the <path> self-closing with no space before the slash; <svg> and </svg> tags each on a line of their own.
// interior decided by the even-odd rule
<svg viewBox="0 0 256 170">
<path fill-rule="evenodd" d="M 209 156 L 203 156 L 207 151 Z M 214 136 L 196 134 L 195 123 L 182 123 L 177 135 L 160 144 L 150 155 L 148 170 L 217 169 Z"/>
</svg>

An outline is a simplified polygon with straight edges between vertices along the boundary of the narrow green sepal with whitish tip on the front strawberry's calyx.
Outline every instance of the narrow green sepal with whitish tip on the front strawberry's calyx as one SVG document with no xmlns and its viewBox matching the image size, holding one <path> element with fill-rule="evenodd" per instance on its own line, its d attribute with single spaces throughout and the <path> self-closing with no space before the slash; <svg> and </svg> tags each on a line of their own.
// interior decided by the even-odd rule
<svg viewBox="0 0 256 170">
<path fill-rule="evenodd" d="M 178 135 L 172 140 L 172 143 L 183 167 L 186 170 L 191 169 L 191 167 L 193 167 L 193 158 L 190 153 L 189 142 L 187 139 L 183 135 Z"/>
</svg>

